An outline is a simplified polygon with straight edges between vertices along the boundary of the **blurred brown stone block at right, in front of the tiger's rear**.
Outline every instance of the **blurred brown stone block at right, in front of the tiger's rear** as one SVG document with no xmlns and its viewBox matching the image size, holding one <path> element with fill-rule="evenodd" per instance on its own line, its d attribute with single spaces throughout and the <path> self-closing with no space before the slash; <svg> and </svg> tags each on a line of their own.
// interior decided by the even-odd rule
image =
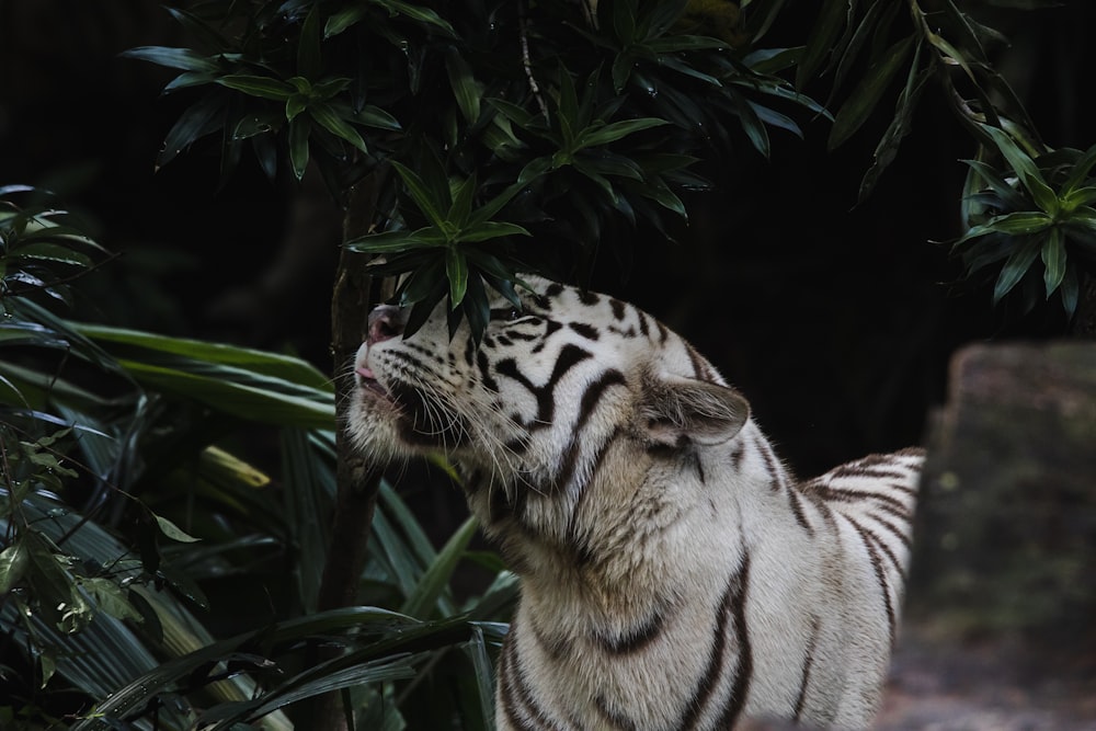
<svg viewBox="0 0 1096 731">
<path fill-rule="evenodd" d="M 877 728 L 1096 731 L 1096 343 L 971 346 L 949 391 Z"/>
</svg>

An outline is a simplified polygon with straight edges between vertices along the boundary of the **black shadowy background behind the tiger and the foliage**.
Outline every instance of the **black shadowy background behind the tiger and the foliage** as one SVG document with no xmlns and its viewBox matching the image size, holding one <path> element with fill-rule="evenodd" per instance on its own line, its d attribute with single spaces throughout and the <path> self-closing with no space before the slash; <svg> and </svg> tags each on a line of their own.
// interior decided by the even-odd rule
<svg viewBox="0 0 1096 731">
<path fill-rule="evenodd" d="M 1047 141 L 1096 141 L 1081 105 L 1093 3 L 997 18 L 1014 39 L 997 66 Z M 789 19 L 781 33 L 802 38 L 809 22 Z M 182 45 L 179 32 L 145 0 L 0 2 L 0 184 L 53 190 L 119 252 L 84 282 L 78 317 L 295 352 L 330 370 L 334 206 L 247 159 L 221 185 L 213 144 L 153 169 L 189 100 L 159 94 L 169 71 L 118 54 Z M 744 138 L 713 153 L 703 168 L 720 187 L 687 201 L 676 241 L 636 231 L 632 261 L 606 253 L 595 273 L 595 288 L 708 355 L 802 473 L 922 442 L 960 345 L 1068 330 L 1057 302 L 992 308 L 991 286 L 960 282 L 948 247 L 933 243 L 959 232 L 959 160 L 975 151 L 940 93 L 925 94 L 913 136 L 863 205 L 859 180 L 893 96 L 835 152 L 827 124 L 800 117 L 806 139 L 774 133 L 770 161 Z M 305 231 L 307 251 L 287 253 L 289 230 Z"/>
</svg>

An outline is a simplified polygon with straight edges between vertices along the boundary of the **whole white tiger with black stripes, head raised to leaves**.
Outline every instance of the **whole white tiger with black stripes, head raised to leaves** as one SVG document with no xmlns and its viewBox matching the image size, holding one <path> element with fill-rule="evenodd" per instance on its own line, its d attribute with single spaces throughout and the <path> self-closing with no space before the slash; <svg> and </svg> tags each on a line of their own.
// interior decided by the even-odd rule
<svg viewBox="0 0 1096 731">
<path fill-rule="evenodd" d="M 499 729 L 870 726 L 923 454 L 809 481 L 740 392 L 617 299 L 537 277 L 477 344 L 381 306 L 347 430 L 374 459 L 444 454 L 521 578 Z"/>
</svg>

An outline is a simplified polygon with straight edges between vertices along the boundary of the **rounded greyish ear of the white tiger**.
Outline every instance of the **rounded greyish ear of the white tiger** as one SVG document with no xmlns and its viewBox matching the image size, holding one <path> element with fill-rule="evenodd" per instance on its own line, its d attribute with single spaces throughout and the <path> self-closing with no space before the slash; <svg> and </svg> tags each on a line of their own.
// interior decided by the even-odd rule
<svg viewBox="0 0 1096 731">
<path fill-rule="evenodd" d="M 655 444 L 721 444 L 742 430 L 750 403 L 733 388 L 695 378 L 649 382 L 640 408 L 643 429 Z"/>
</svg>

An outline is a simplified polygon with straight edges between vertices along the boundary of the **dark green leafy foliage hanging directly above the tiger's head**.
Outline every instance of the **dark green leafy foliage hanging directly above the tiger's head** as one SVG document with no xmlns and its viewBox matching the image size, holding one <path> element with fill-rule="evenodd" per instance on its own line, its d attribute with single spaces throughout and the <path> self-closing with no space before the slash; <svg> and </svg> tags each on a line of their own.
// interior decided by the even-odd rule
<svg viewBox="0 0 1096 731">
<path fill-rule="evenodd" d="M 666 214 L 685 217 L 680 193 L 706 186 L 698 157 L 740 139 L 767 156 L 770 129 L 801 134 L 786 111 L 824 113 L 778 76 L 792 53 L 752 47 L 764 27 L 750 20 L 775 10 L 727 4 L 715 37 L 686 0 L 594 14 L 567 0 L 208 1 L 171 11 L 194 48 L 127 55 L 180 70 L 165 91 L 201 92 L 161 164 L 216 134 L 226 170 L 249 144 L 270 174 L 315 161 L 336 195 L 384 176 L 373 236 L 352 248 L 414 274 L 400 292 L 413 320 L 448 298 L 478 333 L 482 293 L 589 269 L 619 227 L 665 231 Z"/>
</svg>

